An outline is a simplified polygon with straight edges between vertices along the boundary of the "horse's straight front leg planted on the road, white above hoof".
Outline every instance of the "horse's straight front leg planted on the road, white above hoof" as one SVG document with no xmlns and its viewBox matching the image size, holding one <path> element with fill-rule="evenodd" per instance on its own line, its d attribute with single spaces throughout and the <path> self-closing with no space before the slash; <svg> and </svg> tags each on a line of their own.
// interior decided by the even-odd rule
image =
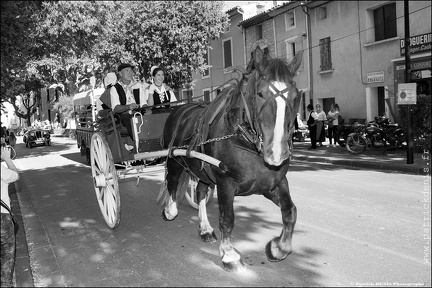
<svg viewBox="0 0 432 288">
<path fill-rule="evenodd" d="M 223 268 L 226 271 L 241 271 L 245 265 L 240 255 L 235 251 L 231 243 L 231 232 L 234 228 L 234 195 L 235 189 L 218 186 L 219 202 L 219 229 L 222 239 L 219 253 L 222 258 Z"/>
</svg>

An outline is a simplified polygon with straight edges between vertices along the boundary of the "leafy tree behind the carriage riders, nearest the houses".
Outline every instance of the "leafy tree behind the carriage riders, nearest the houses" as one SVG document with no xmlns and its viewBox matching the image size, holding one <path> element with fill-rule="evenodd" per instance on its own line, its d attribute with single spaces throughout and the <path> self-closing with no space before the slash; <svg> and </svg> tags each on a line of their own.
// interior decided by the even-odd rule
<svg viewBox="0 0 432 288">
<path fill-rule="evenodd" d="M 125 49 L 139 63 L 140 74 L 163 67 L 166 82 L 178 89 L 190 84 L 192 72 L 208 68 L 210 41 L 228 25 L 223 1 L 127 2 L 120 25 Z"/>
</svg>

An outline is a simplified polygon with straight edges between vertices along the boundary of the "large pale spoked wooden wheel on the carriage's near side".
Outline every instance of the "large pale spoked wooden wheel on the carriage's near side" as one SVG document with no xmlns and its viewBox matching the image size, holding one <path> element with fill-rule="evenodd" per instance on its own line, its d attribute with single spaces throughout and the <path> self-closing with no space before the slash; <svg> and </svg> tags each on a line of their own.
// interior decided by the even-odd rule
<svg viewBox="0 0 432 288">
<path fill-rule="evenodd" d="M 90 165 L 99 207 L 107 225 L 115 228 L 120 223 L 120 193 L 111 150 L 100 132 L 93 134 L 90 146 Z"/>
</svg>

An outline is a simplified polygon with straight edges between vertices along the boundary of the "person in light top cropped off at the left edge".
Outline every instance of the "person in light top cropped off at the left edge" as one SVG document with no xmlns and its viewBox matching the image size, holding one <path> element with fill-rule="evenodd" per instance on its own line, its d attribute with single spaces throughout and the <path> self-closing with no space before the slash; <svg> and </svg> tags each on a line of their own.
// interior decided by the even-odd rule
<svg viewBox="0 0 432 288">
<path fill-rule="evenodd" d="M 1 287 L 13 287 L 16 239 L 12 215 L 9 213 L 11 205 L 8 186 L 17 181 L 19 175 L 10 159 L 10 151 L 5 146 L 1 147 L 1 160 L 6 163 L 1 165 Z"/>
</svg>

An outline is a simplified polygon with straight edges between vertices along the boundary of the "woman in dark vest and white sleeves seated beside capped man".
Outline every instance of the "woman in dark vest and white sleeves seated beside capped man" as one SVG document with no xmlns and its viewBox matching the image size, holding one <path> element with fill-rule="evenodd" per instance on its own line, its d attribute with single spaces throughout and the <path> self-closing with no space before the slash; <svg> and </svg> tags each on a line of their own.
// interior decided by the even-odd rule
<svg viewBox="0 0 432 288">
<path fill-rule="evenodd" d="M 147 101 L 149 106 L 177 101 L 177 98 L 175 97 L 175 94 L 172 91 L 171 87 L 164 83 L 165 73 L 162 68 L 157 66 L 151 67 L 150 75 L 152 76 L 152 84 L 146 89 L 146 92 L 148 94 Z M 170 104 L 159 105 L 153 107 L 152 112 L 166 112 L 169 107 Z"/>
</svg>

